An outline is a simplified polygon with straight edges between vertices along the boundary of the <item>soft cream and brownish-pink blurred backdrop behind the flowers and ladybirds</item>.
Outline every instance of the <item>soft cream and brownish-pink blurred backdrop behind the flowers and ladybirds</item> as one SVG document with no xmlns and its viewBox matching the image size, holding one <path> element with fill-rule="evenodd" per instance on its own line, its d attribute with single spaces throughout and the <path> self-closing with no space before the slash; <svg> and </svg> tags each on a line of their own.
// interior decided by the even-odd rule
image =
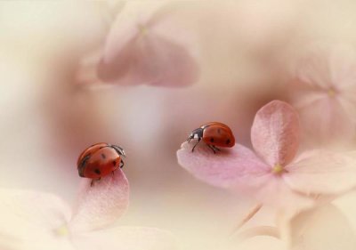
<svg viewBox="0 0 356 250">
<path fill-rule="evenodd" d="M 287 100 L 287 62 L 303 46 L 354 44 L 356 3 L 166 3 L 175 10 L 170 23 L 194 39 L 199 78 L 188 86 L 81 81 L 95 76 L 83 61 L 105 46 L 123 2 L 0 2 L 0 183 L 73 202 L 79 153 L 95 142 L 115 143 L 126 151 L 131 185 L 130 208 L 118 223 L 171 230 L 183 249 L 216 249 L 254 201 L 195 180 L 177 164 L 176 150 L 209 121 L 230 125 L 237 142 L 250 145 L 255 111 Z M 356 194 L 336 204 L 355 230 Z M 248 226 L 272 218 L 265 208 Z M 281 247 L 255 238 L 246 249 L 259 244 Z"/>
</svg>

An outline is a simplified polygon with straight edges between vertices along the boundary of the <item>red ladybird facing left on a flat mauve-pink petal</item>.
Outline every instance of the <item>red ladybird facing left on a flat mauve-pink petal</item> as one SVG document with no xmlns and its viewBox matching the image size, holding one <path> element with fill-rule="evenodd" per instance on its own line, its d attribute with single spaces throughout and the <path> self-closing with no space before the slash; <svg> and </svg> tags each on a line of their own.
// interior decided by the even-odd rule
<svg viewBox="0 0 356 250">
<path fill-rule="evenodd" d="M 190 142 L 192 139 L 198 140 L 193 149 L 191 149 L 192 152 L 194 152 L 200 141 L 206 142 L 206 145 L 213 150 L 214 154 L 217 150 L 220 151 L 216 147 L 231 148 L 235 145 L 235 137 L 231 128 L 219 122 L 207 123 L 193 130 L 187 141 Z"/>
</svg>

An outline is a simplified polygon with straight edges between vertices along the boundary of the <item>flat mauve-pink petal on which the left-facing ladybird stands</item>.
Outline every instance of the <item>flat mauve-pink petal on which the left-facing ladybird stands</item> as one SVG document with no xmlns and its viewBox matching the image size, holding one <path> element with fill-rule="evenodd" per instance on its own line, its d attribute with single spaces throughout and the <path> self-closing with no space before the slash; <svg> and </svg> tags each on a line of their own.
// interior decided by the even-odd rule
<svg viewBox="0 0 356 250">
<path fill-rule="evenodd" d="M 213 153 L 204 142 L 191 152 L 195 141 L 184 142 L 177 151 L 178 163 L 201 181 L 223 188 L 253 185 L 254 178 L 269 171 L 255 153 L 236 144 Z"/>
</svg>

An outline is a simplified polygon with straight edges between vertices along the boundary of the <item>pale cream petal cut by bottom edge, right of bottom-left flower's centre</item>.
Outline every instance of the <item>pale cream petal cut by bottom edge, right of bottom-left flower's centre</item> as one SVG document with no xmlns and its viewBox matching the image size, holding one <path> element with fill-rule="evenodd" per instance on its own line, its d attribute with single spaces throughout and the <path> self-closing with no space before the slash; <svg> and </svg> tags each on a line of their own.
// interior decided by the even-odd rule
<svg viewBox="0 0 356 250">
<path fill-rule="evenodd" d="M 153 228 L 117 227 L 77 235 L 73 238 L 79 249 L 101 250 L 174 250 L 173 235 Z"/>
</svg>

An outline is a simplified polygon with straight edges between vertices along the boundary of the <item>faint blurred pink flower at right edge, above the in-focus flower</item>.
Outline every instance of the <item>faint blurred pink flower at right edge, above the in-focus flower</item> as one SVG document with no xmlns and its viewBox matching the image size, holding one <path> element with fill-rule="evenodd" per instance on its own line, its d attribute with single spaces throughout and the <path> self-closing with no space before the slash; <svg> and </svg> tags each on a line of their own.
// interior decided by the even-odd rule
<svg viewBox="0 0 356 250">
<path fill-rule="evenodd" d="M 308 139 L 351 141 L 356 128 L 354 49 L 317 44 L 297 61 L 293 77 L 290 95 Z"/>
</svg>

